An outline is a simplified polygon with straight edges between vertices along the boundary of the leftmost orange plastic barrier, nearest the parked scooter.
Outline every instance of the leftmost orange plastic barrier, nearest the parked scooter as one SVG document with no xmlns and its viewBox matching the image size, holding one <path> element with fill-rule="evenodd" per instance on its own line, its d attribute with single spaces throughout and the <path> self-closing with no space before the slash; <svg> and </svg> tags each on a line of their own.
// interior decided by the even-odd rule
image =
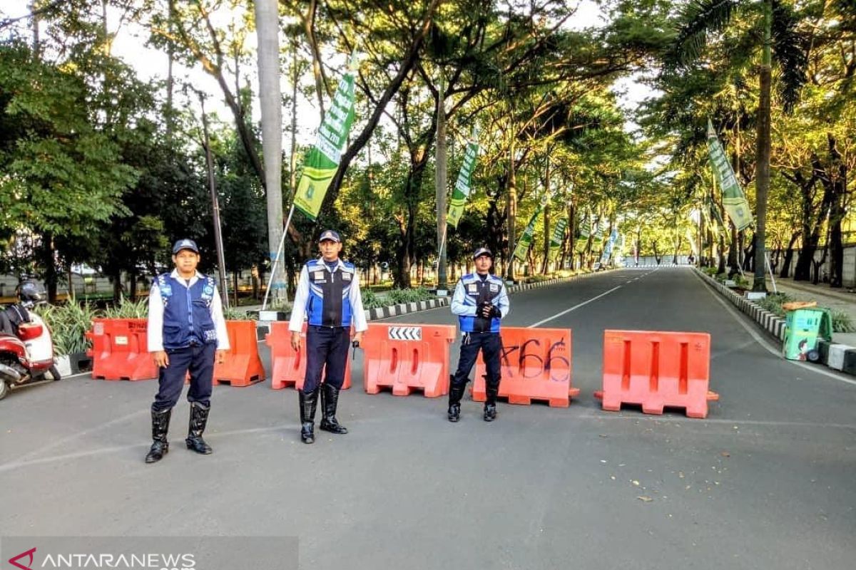
<svg viewBox="0 0 856 570">
<path fill-rule="evenodd" d="M 93 319 L 92 378 L 104 380 L 146 380 L 158 378 L 148 351 L 146 319 Z"/>
</svg>

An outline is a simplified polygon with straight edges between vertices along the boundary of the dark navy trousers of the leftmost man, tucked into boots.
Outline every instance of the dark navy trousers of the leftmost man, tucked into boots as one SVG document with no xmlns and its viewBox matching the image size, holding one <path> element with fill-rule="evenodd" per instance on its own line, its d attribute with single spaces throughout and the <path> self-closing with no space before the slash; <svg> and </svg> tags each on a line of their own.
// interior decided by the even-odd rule
<svg viewBox="0 0 856 570">
<path fill-rule="evenodd" d="M 211 380 L 214 377 L 214 353 L 217 344 L 197 344 L 185 349 L 167 350 L 169 366 L 158 373 L 158 394 L 152 410 L 163 412 L 175 406 L 181 397 L 184 379 L 190 372 L 190 390 L 187 402 L 211 405 Z"/>
</svg>

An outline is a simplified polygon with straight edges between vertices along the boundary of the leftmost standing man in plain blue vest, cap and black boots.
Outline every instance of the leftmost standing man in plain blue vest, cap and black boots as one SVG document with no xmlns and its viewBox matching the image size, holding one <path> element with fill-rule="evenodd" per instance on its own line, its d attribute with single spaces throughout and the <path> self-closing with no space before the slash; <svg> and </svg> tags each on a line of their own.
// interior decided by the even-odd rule
<svg viewBox="0 0 856 570">
<path fill-rule="evenodd" d="M 202 432 L 211 409 L 211 379 L 215 356 L 223 362 L 229 335 L 223 305 L 214 279 L 196 271 L 199 248 L 192 239 L 180 239 L 172 248 L 172 273 L 158 275 L 149 294 L 147 338 L 149 352 L 158 366 L 158 394 L 152 403 L 152 449 L 146 463 L 160 461 L 169 451 L 167 432 L 172 408 L 190 372 L 190 423 L 188 450 L 211 453 Z M 215 354 L 216 353 L 216 354 Z"/>
</svg>

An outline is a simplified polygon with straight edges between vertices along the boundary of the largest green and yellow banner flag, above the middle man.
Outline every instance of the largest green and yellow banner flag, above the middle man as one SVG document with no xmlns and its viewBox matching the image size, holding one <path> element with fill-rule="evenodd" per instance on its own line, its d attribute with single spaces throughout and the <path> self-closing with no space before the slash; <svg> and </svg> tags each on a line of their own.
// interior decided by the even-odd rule
<svg viewBox="0 0 856 570">
<path fill-rule="evenodd" d="M 348 132 L 354 123 L 354 73 L 357 70 L 357 57 L 352 54 L 348 60 L 348 70 L 342 75 L 330 109 L 324 115 L 324 122 L 318 127 L 315 146 L 306 154 L 303 162 L 303 174 L 294 195 L 294 207 L 315 220 L 324 202 L 327 188 L 339 167 L 342 147 L 348 140 Z"/>
</svg>

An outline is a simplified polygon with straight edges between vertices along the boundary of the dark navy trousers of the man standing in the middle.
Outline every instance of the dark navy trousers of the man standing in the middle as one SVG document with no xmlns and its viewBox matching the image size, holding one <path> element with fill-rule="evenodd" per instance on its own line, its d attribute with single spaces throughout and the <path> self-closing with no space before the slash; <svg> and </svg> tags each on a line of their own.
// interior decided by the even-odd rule
<svg viewBox="0 0 856 570">
<path fill-rule="evenodd" d="M 313 326 L 306 329 L 306 377 L 303 391 L 313 391 L 324 382 L 342 389 L 351 330 L 345 326 Z"/>
</svg>

